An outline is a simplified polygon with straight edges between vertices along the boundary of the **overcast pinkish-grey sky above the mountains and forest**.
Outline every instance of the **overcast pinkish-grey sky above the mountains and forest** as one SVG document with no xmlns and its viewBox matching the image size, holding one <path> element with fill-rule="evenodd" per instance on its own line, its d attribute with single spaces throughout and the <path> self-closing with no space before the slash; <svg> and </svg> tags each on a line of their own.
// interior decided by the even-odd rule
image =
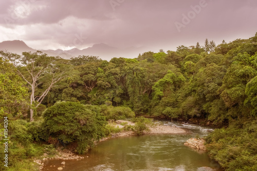
<svg viewBox="0 0 257 171">
<path fill-rule="evenodd" d="M 94 44 L 176 50 L 257 32 L 256 0 L 0 0 L 0 41 L 33 49 Z"/>
</svg>

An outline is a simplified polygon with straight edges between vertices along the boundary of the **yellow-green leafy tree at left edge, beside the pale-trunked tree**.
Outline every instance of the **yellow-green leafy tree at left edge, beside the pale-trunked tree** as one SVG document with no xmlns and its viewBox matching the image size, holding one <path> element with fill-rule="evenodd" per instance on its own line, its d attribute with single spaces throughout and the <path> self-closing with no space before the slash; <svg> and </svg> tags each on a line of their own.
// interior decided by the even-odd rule
<svg viewBox="0 0 257 171">
<path fill-rule="evenodd" d="M 17 119 L 29 109 L 28 89 L 16 68 L 0 57 L 0 117 Z"/>
</svg>

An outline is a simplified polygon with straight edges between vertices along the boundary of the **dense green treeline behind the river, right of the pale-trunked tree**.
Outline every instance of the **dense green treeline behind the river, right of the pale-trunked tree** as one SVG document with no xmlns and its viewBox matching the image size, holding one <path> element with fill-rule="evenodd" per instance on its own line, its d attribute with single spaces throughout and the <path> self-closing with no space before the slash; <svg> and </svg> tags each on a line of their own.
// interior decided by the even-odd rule
<svg viewBox="0 0 257 171">
<path fill-rule="evenodd" d="M 109 62 L 94 56 L 59 59 L 66 76 L 40 108 L 60 100 L 79 101 L 128 106 L 136 115 L 196 117 L 222 125 L 255 117 L 256 39 L 224 41 L 215 48 L 206 40 L 204 47 L 179 46 L 176 52 L 145 52 Z M 35 100 L 49 87 L 47 80 L 36 83 Z"/>
</svg>

